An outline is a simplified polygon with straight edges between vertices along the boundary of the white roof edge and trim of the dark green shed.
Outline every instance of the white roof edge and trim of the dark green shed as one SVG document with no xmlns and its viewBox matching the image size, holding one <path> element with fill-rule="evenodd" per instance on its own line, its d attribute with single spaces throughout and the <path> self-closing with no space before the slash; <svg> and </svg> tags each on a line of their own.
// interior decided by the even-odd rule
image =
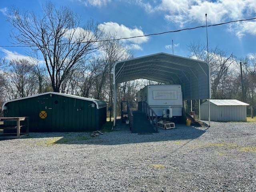
<svg viewBox="0 0 256 192">
<path fill-rule="evenodd" d="M 97 109 L 106 106 L 106 102 L 101 101 L 101 100 L 97 100 L 97 99 L 85 98 L 85 97 L 81 97 L 81 96 L 76 96 L 76 95 L 71 95 L 71 94 L 64 94 L 64 93 L 46 92 L 46 93 L 41 93 L 41 94 L 31 95 L 31 96 L 28 96 L 28 97 L 23 97 L 23 98 L 18 98 L 18 99 L 13 99 L 13 100 L 6 101 L 6 102 L 4 102 L 4 104 L 2 106 L 2 110 L 4 110 L 4 106 L 9 102 L 28 99 L 28 98 L 33 98 L 33 97 L 46 95 L 46 94 L 54 94 L 54 95 L 60 95 L 60 96 L 65 96 L 65 97 L 71 97 L 71 98 L 86 100 L 86 101 L 92 101 L 96 104 Z"/>
</svg>

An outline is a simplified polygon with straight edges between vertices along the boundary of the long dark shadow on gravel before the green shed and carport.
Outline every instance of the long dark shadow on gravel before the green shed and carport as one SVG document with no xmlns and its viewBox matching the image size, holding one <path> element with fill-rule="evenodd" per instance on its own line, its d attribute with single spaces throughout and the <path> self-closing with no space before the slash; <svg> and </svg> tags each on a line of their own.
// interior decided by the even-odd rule
<svg viewBox="0 0 256 192">
<path fill-rule="evenodd" d="M 129 127 L 125 124 L 119 124 L 116 130 L 104 132 L 103 135 L 92 137 L 89 132 L 50 132 L 50 133 L 30 133 L 26 138 L 38 138 L 41 143 L 46 145 L 54 144 L 85 144 L 85 145 L 120 145 L 136 144 L 159 141 L 186 140 L 190 142 L 200 137 L 206 132 L 206 128 L 186 126 L 176 124 L 176 128 L 163 130 L 158 129 L 158 133 L 153 134 L 132 134 Z"/>
</svg>

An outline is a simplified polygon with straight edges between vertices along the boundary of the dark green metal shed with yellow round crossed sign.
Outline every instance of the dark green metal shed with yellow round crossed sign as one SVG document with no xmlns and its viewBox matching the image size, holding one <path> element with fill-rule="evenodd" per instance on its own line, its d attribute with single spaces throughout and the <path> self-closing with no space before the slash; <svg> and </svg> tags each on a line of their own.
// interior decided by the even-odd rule
<svg viewBox="0 0 256 192">
<path fill-rule="evenodd" d="M 106 122 L 106 102 L 46 92 L 7 101 L 5 117 L 29 117 L 30 132 L 83 132 L 100 130 Z"/>
</svg>

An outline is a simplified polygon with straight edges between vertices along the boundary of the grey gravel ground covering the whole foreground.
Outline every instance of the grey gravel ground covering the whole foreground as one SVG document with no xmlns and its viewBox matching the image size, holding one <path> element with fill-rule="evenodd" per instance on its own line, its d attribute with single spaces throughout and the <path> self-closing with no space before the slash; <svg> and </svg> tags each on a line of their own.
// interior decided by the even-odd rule
<svg viewBox="0 0 256 192">
<path fill-rule="evenodd" d="M 0 191 L 256 191 L 256 123 L 0 141 Z"/>
</svg>

